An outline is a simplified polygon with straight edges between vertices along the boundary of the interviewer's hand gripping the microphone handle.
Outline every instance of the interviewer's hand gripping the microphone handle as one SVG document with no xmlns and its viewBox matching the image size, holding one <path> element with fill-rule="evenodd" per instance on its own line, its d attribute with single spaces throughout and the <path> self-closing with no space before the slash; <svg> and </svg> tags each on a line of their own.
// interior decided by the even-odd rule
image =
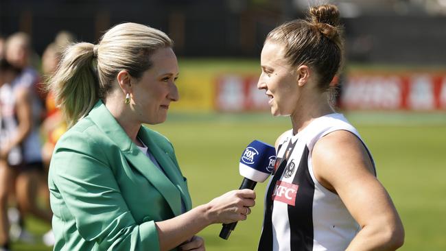
<svg viewBox="0 0 446 251">
<path fill-rule="evenodd" d="M 254 205 L 255 191 L 250 189 L 229 191 L 207 204 L 211 221 L 224 224 L 245 220 Z"/>
</svg>

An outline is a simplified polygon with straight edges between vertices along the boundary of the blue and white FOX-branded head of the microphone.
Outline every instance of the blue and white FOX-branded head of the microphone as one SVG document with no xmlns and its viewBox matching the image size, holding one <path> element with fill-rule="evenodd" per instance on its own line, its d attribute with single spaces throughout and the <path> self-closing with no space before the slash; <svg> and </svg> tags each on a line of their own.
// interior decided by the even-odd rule
<svg viewBox="0 0 446 251">
<path fill-rule="evenodd" d="M 256 182 L 265 181 L 276 163 L 276 150 L 272 145 L 253 141 L 240 157 L 240 175 Z"/>
</svg>

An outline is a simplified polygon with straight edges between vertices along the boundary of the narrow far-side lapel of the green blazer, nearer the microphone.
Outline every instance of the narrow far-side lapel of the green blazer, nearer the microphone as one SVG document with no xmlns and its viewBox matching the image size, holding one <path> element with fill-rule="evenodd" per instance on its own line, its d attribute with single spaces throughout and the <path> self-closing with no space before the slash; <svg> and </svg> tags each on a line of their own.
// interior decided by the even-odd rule
<svg viewBox="0 0 446 251">
<path fill-rule="evenodd" d="M 149 131 L 150 129 L 146 129 L 141 126 L 139 130 L 138 136 L 143 142 L 148 145 L 150 152 L 152 152 L 153 156 L 158 161 L 159 165 L 165 171 L 169 180 L 176 186 L 176 188 L 181 193 L 181 198 L 183 198 L 183 202 L 185 203 L 187 211 L 191 209 L 191 198 L 189 195 L 189 191 L 187 189 L 187 184 L 183 179 L 183 175 L 178 170 L 179 167 L 174 163 L 174 160 L 169 156 L 168 152 L 164 152 L 161 147 L 159 147 L 159 143 L 156 142 L 153 137 L 150 137 Z M 153 132 L 152 132 L 153 133 Z"/>
</svg>

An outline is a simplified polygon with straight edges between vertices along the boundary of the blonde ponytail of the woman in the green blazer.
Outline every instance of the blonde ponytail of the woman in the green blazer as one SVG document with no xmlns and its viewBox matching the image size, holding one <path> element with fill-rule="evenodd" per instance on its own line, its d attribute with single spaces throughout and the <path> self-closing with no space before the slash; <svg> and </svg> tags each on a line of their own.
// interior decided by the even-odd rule
<svg viewBox="0 0 446 251">
<path fill-rule="evenodd" d="M 49 89 L 69 127 L 85 117 L 99 99 L 93 47 L 91 43 L 67 47 L 56 73 L 49 80 Z"/>
</svg>

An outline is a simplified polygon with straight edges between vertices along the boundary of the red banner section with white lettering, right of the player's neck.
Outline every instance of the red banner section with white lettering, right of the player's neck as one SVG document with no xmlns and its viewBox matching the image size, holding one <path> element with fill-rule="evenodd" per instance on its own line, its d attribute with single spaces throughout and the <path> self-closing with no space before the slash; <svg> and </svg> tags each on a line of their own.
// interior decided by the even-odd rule
<svg viewBox="0 0 446 251">
<path fill-rule="evenodd" d="M 340 105 L 349 110 L 443 110 L 446 75 L 350 75 Z"/>
</svg>

